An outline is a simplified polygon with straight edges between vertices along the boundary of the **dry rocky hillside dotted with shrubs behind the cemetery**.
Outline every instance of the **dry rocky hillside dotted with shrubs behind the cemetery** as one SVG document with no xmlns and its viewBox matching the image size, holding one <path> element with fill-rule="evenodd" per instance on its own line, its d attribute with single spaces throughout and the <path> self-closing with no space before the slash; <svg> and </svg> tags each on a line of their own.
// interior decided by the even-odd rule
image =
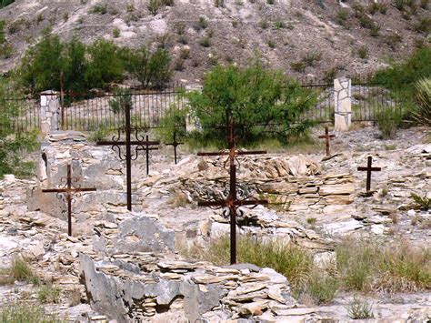
<svg viewBox="0 0 431 323">
<path fill-rule="evenodd" d="M 162 43 L 175 78 L 192 83 L 217 63 L 244 64 L 256 53 L 296 76 L 364 74 L 426 43 L 430 8 L 427 0 L 17 0 L 0 10 L 12 46 L 0 70 L 18 64 L 50 26 L 87 43 Z"/>
</svg>

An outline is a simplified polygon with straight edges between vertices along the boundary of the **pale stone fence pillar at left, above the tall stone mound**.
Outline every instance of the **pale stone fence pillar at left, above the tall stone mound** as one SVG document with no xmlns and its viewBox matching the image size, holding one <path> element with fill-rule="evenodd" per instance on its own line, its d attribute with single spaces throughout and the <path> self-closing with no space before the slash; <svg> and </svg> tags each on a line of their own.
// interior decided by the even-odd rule
<svg viewBox="0 0 431 323">
<path fill-rule="evenodd" d="M 55 91 L 40 94 L 40 124 L 43 135 L 60 128 L 60 96 Z"/>
</svg>

